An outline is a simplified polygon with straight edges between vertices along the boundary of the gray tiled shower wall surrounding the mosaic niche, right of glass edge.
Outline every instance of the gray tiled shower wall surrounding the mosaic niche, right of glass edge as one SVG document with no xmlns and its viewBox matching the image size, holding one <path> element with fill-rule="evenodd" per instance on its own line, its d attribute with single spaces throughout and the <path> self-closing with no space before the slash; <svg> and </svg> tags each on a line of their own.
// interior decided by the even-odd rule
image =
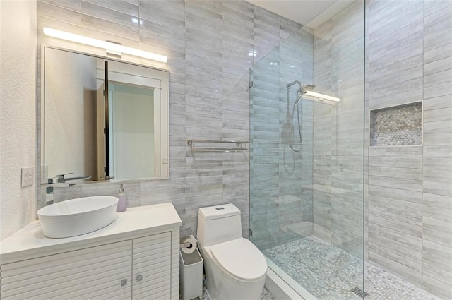
<svg viewBox="0 0 452 300">
<path fill-rule="evenodd" d="M 368 148 L 369 260 L 452 299 L 452 2 L 368 10 L 367 116 L 423 101 L 423 145 Z"/>
</svg>

